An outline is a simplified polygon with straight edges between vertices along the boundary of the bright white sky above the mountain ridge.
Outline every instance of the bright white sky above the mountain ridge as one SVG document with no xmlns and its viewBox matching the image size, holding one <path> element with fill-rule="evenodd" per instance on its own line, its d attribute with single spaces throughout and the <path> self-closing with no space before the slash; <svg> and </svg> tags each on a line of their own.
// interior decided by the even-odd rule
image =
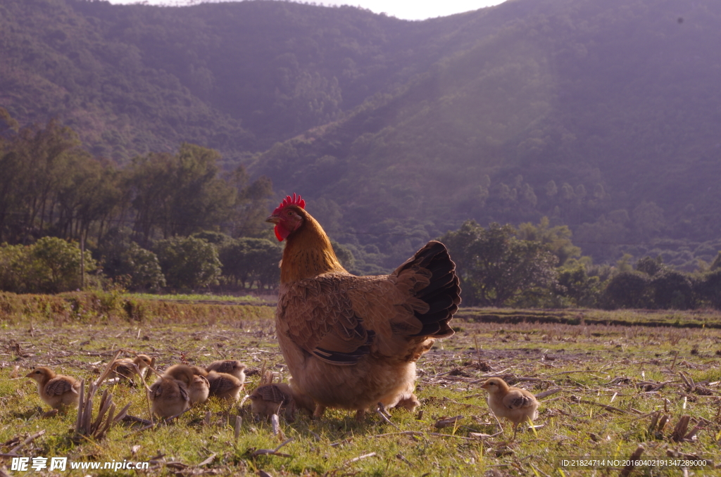
<svg viewBox="0 0 721 477">
<path fill-rule="evenodd" d="M 207 0 L 203 0 L 205 2 Z M 231 1 L 231 0 L 214 0 Z M 485 6 L 493 6 L 503 3 L 504 0 L 312 0 L 323 5 L 352 5 L 361 6 L 376 13 L 386 13 L 392 17 L 407 20 L 423 20 L 435 17 L 447 17 L 448 15 L 469 12 Z M 136 4 L 146 3 L 149 5 L 187 5 L 200 3 L 198 0 L 110 0 L 111 4 Z M 305 2 L 301 2 L 305 3 Z"/>
</svg>

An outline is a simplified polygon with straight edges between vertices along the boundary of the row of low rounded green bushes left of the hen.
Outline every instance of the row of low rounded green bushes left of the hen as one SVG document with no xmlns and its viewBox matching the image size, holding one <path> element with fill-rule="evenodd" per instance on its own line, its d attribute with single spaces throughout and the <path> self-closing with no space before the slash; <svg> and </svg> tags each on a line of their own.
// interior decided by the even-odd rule
<svg viewBox="0 0 721 477">
<path fill-rule="evenodd" d="M 127 236 L 81 251 L 77 242 L 46 236 L 31 245 L 0 245 L 0 290 L 59 293 L 81 287 L 133 291 L 273 289 L 282 249 L 267 239 L 221 233 L 174 236 L 143 249 Z M 99 259 L 94 256 L 99 255 Z M 224 260 L 221 262 L 221 258 Z"/>
</svg>

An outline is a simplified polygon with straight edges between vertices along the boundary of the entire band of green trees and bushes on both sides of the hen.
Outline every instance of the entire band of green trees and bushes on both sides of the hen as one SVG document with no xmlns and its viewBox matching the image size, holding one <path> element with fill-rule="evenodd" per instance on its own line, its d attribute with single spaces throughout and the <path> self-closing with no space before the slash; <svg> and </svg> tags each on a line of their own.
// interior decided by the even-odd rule
<svg viewBox="0 0 721 477">
<path fill-rule="evenodd" d="M 0 115 L 1 290 L 277 284 L 282 249 L 262 223 L 270 179 L 251 181 L 242 166 L 224 171 L 218 152 L 188 143 L 176 153 L 136 156 L 121 169 L 92 157 L 56 121 L 21 129 L 4 110 Z M 570 228 L 548 218 L 518 228 L 469 220 L 441 240 L 469 306 L 721 308 L 721 253 L 692 273 L 660 256 L 593 264 L 572 243 Z M 401 245 L 397 252 L 405 253 Z M 367 273 L 359 267 L 373 265 L 369 259 L 387 258 L 368 244 L 334 247 L 357 274 Z"/>
</svg>

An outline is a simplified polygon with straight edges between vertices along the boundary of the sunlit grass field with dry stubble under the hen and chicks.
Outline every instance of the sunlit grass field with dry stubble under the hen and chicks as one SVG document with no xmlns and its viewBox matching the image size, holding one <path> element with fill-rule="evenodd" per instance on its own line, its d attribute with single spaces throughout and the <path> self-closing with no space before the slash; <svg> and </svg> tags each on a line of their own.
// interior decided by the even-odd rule
<svg viewBox="0 0 721 477">
<path fill-rule="evenodd" d="M 105 439 L 77 437 L 71 432 L 76 411 L 43 416 L 48 407 L 35 383 L 22 378 L 32 366 L 91 380 L 123 349 L 156 357 L 161 370 L 181 360 L 242 360 L 251 372 L 246 392 L 257 385 L 260 375 L 254 372 L 263 366 L 288 378 L 270 307 L 225 305 L 230 310 L 221 313 L 219 305 L 193 311 L 211 305 L 152 308 L 143 298 L 133 300 L 145 307 L 134 320 L 131 314 L 43 318 L 30 306 L 22 319 L 14 308 L 2 308 L 0 453 L 75 463 L 149 462 L 149 470 L 138 474 L 150 476 L 721 476 L 721 330 L 684 328 L 683 315 L 674 327 L 487 323 L 461 313 L 466 318 L 452 322 L 456 335 L 418 362 L 422 406 L 415 413 L 392 410 L 392 424 L 373 413 L 355 422 L 353 415 L 335 410 L 315 421 L 304 415 L 293 423 L 281 419 L 274 435 L 270 423 L 253 419 L 247 404 L 211 401 L 168 424 L 120 422 Z M 479 388 L 479 380 L 491 375 L 537 396 L 545 393 L 535 429 L 512 441 L 510 426 L 502 422 L 505 432 L 497 434 L 500 428 Z M 131 403 L 128 414 L 150 419 L 142 388 L 103 388 L 118 409 Z M 238 432 L 236 416 L 242 420 Z M 438 424 L 455 416 L 461 416 L 455 423 Z M 276 455 L 259 452 L 288 440 Z M 624 473 L 623 461 L 639 446 L 647 463 L 706 465 L 640 465 Z M 563 459 L 582 458 L 618 462 L 561 465 Z M 9 475 L 136 475 L 10 468 L 9 457 L 0 459 Z"/>
</svg>

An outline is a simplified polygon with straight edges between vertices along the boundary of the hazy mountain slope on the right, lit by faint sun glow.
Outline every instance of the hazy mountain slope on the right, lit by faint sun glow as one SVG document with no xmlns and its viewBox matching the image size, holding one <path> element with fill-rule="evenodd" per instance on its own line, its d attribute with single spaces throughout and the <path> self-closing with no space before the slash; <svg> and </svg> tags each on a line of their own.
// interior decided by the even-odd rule
<svg viewBox="0 0 721 477">
<path fill-rule="evenodd" d="M 454 53 L 255 170 L 363 231 L 547 215 L 600 260 L 715 256 L 721 4 L 516 0 L 459 17 Z"/>
</svg>

